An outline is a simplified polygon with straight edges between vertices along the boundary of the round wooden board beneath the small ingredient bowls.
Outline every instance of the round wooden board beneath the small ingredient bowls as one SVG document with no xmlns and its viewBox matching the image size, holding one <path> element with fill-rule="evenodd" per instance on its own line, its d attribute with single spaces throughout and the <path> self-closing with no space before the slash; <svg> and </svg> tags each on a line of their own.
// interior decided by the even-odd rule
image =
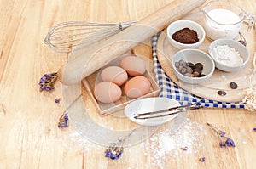
<svg viewBox="0 0 256 169">
<path fill-rule="evenodd" d="M 203 25 L 203 14 L 201 12 L 189 14 L 185 18 L 186 20 L 194 20 L 197 23 Z M 212 99 L 222 102 L 240 102 L 244 98 L 244 90 L 249 87 L 250 76 L 252 74 L 253 55 L 256 51 L 256 32 L 255 28 L 251 33 L 247 32 L 247 26 L 244 24 L 241 29 L 242 34 L 247 40 L 247 49 L 250 54 L 250 60 L 247 66 L 237 72 L 224 72 L 221 70 L 214 70 L 212 77 L 207 81 L 197 85 L 191 85 L 189 83 L 181 82 L 177 79 L 172 71 L 172 57 L 178 51 L 173 48 L 171 43 L 168 41 L 166 31 L 160 34 L 157 42 L 157 54 L 160 61 L 160 65 L 165 70 L 166 75 L 175 82 L 177 86 L 182 87 L 189 93 L 193 93 L 199 97 L 205 99 Z M 239 38 L 237 38 L 238 40 Z M 198 48 L 208 53 L 208 46 L 212 41 L 207 38 L 203 44 Z M 256 78 L 256 77 L 254 77 Z M 237 89 L 231 89 L 229 86 L 230 82 L 236 82 L 238 85 Z M 227 94 L 225 96 L 218 95 L 219 90 L 224 90 Z"/>
</svg>

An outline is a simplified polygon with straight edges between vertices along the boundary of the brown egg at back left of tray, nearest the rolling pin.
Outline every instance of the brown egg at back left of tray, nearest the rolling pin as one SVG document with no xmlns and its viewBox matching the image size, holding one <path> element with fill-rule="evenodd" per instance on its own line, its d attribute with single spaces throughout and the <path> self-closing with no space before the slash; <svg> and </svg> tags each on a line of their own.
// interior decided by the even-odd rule
<svg viewBox="0 0 256 169">
<path fill-rule="evenodd" d="M 119 86 L 124 84 L 128 79 L 126 71 L 119 66 L 106 67 L 102 70 L 101 76 L 103 81 L 113 82 Z"/>
</svg>

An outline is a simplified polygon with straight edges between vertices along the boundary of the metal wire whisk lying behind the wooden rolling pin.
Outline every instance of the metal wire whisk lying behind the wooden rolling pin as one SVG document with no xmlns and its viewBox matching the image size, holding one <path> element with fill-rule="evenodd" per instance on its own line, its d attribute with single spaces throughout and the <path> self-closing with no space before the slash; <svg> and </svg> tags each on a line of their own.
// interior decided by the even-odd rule
<svg viewBox="0 0 256 169">
<path fill-rule="evenodd" d="M 110 37 L 133 25 L 137 20 L 124 23 L 63 22 L 52 27 L 44 43 L 55 52 L 68 53 Z"/>
</svg>

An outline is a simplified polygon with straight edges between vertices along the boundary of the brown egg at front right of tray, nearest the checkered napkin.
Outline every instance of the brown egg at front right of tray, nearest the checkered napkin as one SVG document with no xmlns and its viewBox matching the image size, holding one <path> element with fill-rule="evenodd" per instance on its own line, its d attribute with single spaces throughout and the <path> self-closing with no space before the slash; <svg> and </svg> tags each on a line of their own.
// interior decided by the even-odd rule
<svg viewBox="0 0 256 169">
<path fill-rule="evenodd" d="M 149 92 L 150 82 L 145 76 L 135 76 L 125 83 L 124 90 L 126 96 L 130 98 L 138 98 Z"/>
</svg>

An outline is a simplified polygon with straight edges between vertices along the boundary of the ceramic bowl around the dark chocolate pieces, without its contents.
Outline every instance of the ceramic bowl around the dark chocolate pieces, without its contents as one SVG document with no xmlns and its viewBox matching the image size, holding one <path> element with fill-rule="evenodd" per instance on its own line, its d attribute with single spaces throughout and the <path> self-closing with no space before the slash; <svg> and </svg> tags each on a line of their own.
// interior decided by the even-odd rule
<svg viewBox="0 0 256 169">
<path fill-rule="evenodd" d="M 185 62 L 191 62 L 193 64 L 201 63 L 203 65 L 203 70 L 201 74 L 204 74 L 205 76 L 190 77 L 180 73 L 177 70 L 175 63 L 181 59 L 183 59 Z M 174 71 L 174 74 L 179 80 L 190 84 L 206 82 L 212 76 L 214 69 L 215 64 L 211 56 L 199 49 L 185 48 L 174 54 L 172 58 L 172 70 Z"/>
</svg>

